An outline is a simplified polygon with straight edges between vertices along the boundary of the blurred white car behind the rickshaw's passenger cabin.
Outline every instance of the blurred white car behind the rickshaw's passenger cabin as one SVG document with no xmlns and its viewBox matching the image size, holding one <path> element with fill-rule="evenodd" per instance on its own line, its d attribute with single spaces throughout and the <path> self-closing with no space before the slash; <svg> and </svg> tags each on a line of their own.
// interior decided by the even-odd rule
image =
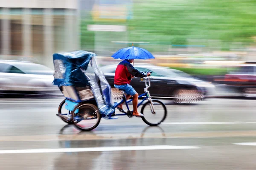
<svg viewBox="0 0 256 170">
<path fill-rule="evenodd" d="M 52 93 L 59 92 L 52 85 L 54 71 L 33 62 L 0 60 L 0 92 L 15 93 Z"/>
</svg>

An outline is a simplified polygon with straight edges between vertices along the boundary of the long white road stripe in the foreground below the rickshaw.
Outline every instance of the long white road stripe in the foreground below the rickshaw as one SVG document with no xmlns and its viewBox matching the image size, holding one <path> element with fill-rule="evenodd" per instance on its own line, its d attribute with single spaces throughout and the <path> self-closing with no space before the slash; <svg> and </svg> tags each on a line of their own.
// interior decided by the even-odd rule
<svg viewBox="0 0 256 170">
<path fill-rule="evenodd" d="M 80 147 L 80 148 L 57 148 L 57 149 L 24 149 L 24 150 L 0 150 L 0 154 L 9 153 L 64 153 L 64 152 L 103 152 L 122 150 L 169 150 L 169 149 L 201 149 L 196 146 L 124 146 L 124 147 Z"/>
</svg>

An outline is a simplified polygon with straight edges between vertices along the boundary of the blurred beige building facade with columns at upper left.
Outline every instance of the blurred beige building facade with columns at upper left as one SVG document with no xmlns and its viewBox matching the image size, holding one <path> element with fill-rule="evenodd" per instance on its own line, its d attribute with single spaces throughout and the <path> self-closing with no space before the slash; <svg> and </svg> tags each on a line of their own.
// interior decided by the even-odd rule
<svg viewBox="0 0 256 170">
<path fill-rule="evenodd" d="M 52 54 L 80 48 L 76 0 L 0 1 L 0 59 L 52 68 Z"/>
</svg>

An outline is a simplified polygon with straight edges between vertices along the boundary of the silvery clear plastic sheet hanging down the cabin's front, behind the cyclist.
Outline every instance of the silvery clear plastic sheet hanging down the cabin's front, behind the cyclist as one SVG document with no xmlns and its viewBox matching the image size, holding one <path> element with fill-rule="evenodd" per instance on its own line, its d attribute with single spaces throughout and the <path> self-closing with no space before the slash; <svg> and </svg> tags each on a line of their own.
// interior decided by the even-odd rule
<svg viewBox="0 0 256 170">
<path fill-rule="evenodd" d="M 104 74 L 100 71 L 95 57 L 90 60 L 87 70 L 82 70 L 90 83 L 99 111 L 108 116 L 114 113 L 111 86 L 108 84 Z"/>
</svg>

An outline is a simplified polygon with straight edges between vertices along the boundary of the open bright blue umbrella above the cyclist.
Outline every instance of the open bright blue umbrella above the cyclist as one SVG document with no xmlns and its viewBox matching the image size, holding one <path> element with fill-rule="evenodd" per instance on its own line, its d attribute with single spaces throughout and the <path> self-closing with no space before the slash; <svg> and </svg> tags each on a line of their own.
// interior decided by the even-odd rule
<svg viewBox="0 0 256 170">
<path fill-rule="evenodd" d="M 116 51 L 112 57 L 114 59 L 154 59 L 154 56 L 149 51 L 140 47 L 134 47 L 133 43 L 131 47 Z"/>
</svg>

